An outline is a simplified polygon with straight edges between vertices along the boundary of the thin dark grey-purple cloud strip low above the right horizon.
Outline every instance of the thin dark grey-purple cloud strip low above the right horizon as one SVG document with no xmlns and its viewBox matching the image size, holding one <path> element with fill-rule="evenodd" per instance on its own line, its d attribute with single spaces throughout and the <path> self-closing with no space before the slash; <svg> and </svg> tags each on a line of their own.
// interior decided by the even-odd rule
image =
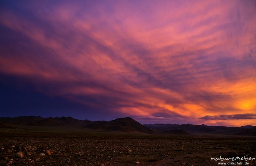
<svg viewBox="0 0 256 166">
<path fill-rule="evenodd" d="M 206 115 L 199 119 L 204 120 L 228 120 L 228 119 L 256 119 L 256 114 L 254 113 L 244 113 L 244 114 L 234 114 L 234 115 Z"/>
</svg>

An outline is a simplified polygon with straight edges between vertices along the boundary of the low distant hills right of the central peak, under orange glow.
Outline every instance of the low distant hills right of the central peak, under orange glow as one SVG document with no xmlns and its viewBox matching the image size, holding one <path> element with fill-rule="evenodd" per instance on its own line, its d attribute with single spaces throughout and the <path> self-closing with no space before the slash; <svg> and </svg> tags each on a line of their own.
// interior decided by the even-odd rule
<svg viewBox="0 0 256 166">
<path fill-rule="evenodd" d="M 256 135 L 254 126 L 242 127 L 225 127 L 225 126 L 207 126 L 207 125 L 193 125 L 193 124 L 144 124 L 149 129 L 157 129 L 160 131 L 168 130 L 184 130 L 188 133 L 194 134 L 225 134 L 225 135 Z"/>
</svg>

